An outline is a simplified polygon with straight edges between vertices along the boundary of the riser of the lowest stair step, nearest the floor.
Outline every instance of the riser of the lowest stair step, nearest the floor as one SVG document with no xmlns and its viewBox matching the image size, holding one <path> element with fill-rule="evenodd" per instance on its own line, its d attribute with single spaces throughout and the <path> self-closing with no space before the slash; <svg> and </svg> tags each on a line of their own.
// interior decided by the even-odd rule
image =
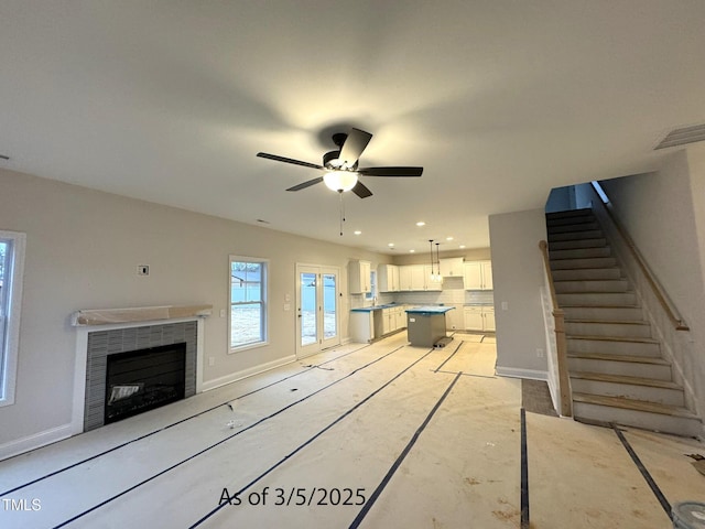
<svg viewBox="0 0 705 529">
<path fill-rule="evenodd" d="M 573 414 L 577 420 L 614 422 L 627 427 L 643 428 L 675 435 L 695 436 L 701 433 L 702 424 L 695 419 L 664 415 L 647 411 L 625 410 L 586 402 L 574 402 Z"/>
</svg>

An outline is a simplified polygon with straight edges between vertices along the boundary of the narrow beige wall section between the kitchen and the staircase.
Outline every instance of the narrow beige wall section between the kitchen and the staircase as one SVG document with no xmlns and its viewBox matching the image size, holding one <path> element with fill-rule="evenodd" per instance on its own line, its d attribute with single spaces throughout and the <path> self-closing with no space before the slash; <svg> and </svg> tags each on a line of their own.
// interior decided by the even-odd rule
<svg viewBox="0 0 705 529">
<path fill-rule="evenodd" d="M 490 215 L 489 238 L 495 283 L 497 371 L 545 379 L 545 331 L 541 306 L 543 261 L 539 241 L 546 238 L 543 209 Z M 502 310 L 502 303 L 508 310 Z M 544 356 L 539 358 L 536 349 Z"/>
</svg>

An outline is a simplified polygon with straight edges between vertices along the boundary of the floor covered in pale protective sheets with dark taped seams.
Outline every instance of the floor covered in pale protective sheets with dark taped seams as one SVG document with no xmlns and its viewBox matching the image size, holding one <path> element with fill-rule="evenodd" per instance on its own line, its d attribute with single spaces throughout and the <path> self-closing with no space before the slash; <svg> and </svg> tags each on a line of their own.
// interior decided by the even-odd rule
<svg viewBox="0 0 705 529">
<path fill-rule="evenodd" d="M 669 528 L 705 500 L 703 444 L 524 410 L 492 342 L 348 344 L 0 462 L 0 527 Z"/>
</svg>

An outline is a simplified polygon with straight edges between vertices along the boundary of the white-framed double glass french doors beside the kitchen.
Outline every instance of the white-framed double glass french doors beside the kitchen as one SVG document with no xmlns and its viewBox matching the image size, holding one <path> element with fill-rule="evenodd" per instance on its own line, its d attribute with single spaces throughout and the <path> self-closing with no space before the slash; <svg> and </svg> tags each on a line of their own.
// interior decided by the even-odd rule
<svg viewBox="0 0 705 529">
<path fill-rule="evenodd" d="M 296 356 L 340 344 L 337 268 L 296 264 Z"/>
</svg>

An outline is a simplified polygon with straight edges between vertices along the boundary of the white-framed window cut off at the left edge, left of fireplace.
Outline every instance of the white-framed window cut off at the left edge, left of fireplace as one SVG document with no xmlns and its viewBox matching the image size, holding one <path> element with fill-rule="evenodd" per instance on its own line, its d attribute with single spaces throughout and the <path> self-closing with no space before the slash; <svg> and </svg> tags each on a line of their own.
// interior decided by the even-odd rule
<svg viewBox="0 0 705 529">
<path fill-rule="evenodd" d="M 25 235 L 0 231 L 0 406 L 14 402 Z"/>
</svg>

